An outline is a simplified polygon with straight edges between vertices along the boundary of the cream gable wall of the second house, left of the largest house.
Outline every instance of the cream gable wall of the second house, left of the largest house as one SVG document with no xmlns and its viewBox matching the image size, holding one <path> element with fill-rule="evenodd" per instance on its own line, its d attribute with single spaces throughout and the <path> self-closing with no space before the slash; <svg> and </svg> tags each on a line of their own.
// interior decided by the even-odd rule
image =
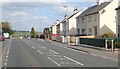
<svg viewBox="0 0 120 69">
<path fill-rule="evenodd" d="M 76 23 L 76 17 L 79 16 L 81 14 L 81 12 L 78 12 L 77 14 L 75 14 L 73 17 L 71 17 L 70 19 L 68 19 L 69 22 L 69 29 L 68 29 L 68 34 L 69 35 L 77 35 L 77 23 Z"/>
</svg>

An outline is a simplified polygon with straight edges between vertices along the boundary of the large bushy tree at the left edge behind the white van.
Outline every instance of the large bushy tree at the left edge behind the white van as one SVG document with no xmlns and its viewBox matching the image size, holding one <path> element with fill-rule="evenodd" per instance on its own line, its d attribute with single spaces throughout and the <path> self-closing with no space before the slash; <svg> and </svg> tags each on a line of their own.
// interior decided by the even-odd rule
<svg viewBox="0 0 120 69">
<path fill-rule="evenodd" d="M 2 32 L 3 33 L 9 33 L 10 35 L 13 34 L 13 30 L 11 29 L 9 22 L 2 22 Z"/>
</svg>

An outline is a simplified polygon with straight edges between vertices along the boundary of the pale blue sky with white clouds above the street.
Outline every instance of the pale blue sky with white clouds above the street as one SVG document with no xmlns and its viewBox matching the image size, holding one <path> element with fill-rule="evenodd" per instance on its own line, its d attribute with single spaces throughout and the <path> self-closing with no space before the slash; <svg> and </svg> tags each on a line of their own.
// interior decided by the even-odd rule
<svg viewBox="0 0 120 69">
<path fill-rule="evenodd" d="M 84 11 L 95 4 L 95 0 L 2 0 L 0 22 L 8 21 L 18 31 L 30 31 L 34 27 L 42 32 L 56 20 L 62 21 L 65 14 L 72 15 L 74 8 Z"/>
</svg>

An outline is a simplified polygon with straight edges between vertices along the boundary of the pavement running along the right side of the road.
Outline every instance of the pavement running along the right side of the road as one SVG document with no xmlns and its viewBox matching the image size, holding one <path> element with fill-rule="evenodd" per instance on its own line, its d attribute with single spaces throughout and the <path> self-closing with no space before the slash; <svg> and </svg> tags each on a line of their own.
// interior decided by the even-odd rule
<svg viewBox="0 0 120 69">
<path fill-rule="evenodd" d="M 84 44 L 75 46 L 75 45 L 63 44 L 63 43 L 59 43 L 59 42 L 55 42 L 51 40 L 47 40 L 47 41 L 50 43 L 55 43 L 56 45 L 59 45 L 59 46 L 66 46 L 74 50 L 85 51 L 87 53 L 92 54 L 93 56 L 111 59 L 116 62 L 118 62 L 118 59 L 120 59 L 120 50 L 116 50 L 112 52 L 111 50 L 105 50 L 105 48 L 99 48 L 99 47 L 94 47 L 94 46 L 89 46 L 89 45 L 84 45 Z"/>
</svg>

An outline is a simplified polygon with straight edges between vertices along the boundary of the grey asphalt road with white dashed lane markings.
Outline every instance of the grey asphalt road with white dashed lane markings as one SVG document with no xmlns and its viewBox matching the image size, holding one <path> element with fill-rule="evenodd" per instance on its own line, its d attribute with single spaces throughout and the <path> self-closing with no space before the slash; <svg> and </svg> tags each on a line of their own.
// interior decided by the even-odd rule
<svg viewBox="0 0 120 69">
<path fill-rule="evenodd" d="M 3 67 L 118 67 L 117 61 L 42 39 L 4 41 L 2 60 Z"/>
</svg>

